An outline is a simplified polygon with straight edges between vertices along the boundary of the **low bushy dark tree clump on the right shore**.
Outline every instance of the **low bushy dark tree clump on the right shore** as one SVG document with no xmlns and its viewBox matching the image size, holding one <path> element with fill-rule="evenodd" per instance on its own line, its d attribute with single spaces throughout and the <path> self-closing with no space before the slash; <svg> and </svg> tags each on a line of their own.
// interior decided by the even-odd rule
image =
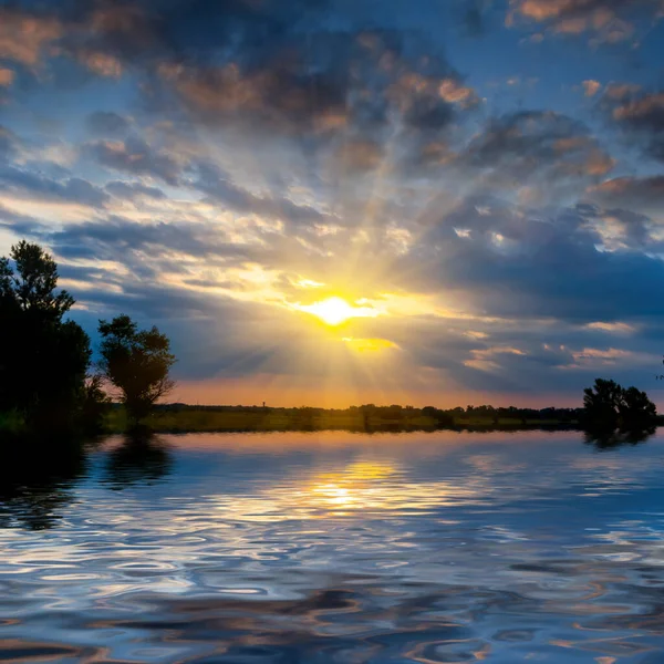
<svg viewBox="0 0 664 664">
<path fill-rule="evenodd" d="M 625 390 L 614 381 L 598 378 L 593 387 L 583 391 L 583 419 L 592 428 L 642 428 L 656 415 L 655 404 L 636 387 Z"/>
</svg>

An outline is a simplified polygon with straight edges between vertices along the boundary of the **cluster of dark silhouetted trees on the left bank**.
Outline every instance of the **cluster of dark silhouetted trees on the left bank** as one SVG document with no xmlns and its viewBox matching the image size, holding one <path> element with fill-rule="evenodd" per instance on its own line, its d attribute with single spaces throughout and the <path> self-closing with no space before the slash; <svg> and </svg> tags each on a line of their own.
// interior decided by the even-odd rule
<svg viewBox="0 0 664 664">
<path fill-rule="evenodd" d="M 100 357 L 66 318 L 75 304 L 58 291 L 58 266 L 39 245 L 21 241 L 0 258 L 0 427 L 14 433 L 101 429 L 112 400 L 133 424 L 173 387 L 175 357 L 156 328 L 129 317 L 100 321 Z"/>
</svg>

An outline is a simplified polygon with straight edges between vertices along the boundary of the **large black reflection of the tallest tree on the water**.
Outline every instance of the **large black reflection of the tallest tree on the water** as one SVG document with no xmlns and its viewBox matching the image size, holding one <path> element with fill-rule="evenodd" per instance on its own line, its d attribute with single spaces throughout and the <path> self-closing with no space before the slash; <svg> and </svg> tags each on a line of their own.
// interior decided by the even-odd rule
<svg viewBox="0 0 664 664">
<path fill-rule="evenodd" d="M 58 525 L 87 470 L 85 445 L 72 438 L 12 438 L 0 449 L 0 528 Z"/>
</svg>

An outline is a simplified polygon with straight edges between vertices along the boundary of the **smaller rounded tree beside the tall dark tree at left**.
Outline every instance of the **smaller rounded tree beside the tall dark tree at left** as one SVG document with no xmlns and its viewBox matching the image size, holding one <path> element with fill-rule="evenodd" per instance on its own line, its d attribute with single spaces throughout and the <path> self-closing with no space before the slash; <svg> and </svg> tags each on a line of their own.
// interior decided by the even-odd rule
<svg viewBox="0 0 664 664">
<path fill-rule="evenodd" d="M 175 386 L 168 375 L 175 363 L 170 341 L 157 328 L 138 330 L 124 314 L 110 323 L 100 321 L 100 369 L 118 391 L 132 423 L 137 424 Z"/>
</svg>

